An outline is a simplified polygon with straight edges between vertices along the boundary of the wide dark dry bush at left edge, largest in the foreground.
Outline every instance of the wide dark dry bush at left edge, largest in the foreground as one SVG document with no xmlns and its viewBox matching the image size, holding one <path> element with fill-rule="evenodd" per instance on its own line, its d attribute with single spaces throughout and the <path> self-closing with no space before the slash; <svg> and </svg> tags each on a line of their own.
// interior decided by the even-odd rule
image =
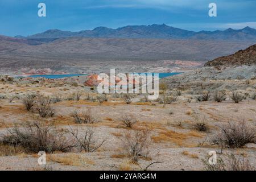
<svg viewBox="0 0 256 182">
<path fill-rule="evenodd" d="M 42 123 L 26 123 L 23 127 L 15 125 L 1 136 L 1 143 L 15 147 L 23 147 L 26 152 L 68 152 L 72 149 L 72 140 L 65 137 L 64 131 Z"/>
</svg>

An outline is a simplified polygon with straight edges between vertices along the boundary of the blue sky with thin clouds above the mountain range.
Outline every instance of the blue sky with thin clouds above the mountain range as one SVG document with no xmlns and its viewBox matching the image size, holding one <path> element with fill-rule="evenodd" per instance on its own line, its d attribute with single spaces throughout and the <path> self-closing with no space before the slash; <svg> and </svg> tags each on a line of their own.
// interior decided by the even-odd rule
<svg viewBox="0 0 256 182">
<path fill-rule="evenodd" d="M 46 3 L 47 17 L 38 17 Z M 208 5 L 217 4 L 217 17 Z M 187 30 L 256 28 L 256 0 L 1 0 L 0 35 L 32 35 L 49 29 L 167 24 Z"/>
</svg>

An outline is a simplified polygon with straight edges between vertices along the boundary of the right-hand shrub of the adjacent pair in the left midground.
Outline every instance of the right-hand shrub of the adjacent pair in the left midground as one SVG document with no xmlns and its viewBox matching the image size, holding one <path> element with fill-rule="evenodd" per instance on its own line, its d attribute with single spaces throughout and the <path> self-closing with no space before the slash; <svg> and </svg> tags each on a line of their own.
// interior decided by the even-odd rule
<svg viewBox="0 0 256 182">
<path fill-rule="evenodd" d="M 55 110 L 51 107 L 51 98 L 38 96 L 38 103 L 36 104 L 35 110 L 42 118 L 53 117 Z"/>
</svg>

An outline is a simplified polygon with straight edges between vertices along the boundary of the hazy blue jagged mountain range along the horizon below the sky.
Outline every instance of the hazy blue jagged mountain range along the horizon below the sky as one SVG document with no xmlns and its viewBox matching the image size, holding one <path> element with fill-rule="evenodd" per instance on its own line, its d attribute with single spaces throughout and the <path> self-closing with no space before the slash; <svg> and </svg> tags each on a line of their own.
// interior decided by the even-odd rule
<svg viewBox="0 0 256 182">
<path fill-rule="evenodd" d="M 24 38 L 23 36 L 16 37 Z M 26 39 L 56 39 L 69 37 L 256 41 L 256 30 L 254 28 L 245 27 L 241 30 L 228 28 L 224 31 L 195 32 L 170 27 L 166 24 L 152 24 L 148 26 L 126 26 L 117 29 L 97 27 L 93 30 L 79 32 L 47 30 L 40 34 L 27 36 Z"/>
</svg>

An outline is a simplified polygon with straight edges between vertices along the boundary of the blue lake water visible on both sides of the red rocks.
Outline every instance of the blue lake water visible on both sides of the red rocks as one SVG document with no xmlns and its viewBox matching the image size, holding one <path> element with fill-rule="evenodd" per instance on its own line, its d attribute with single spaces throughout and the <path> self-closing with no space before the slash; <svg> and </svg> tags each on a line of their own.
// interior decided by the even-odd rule
<svg viewBox="0 0 256 182">
<path fill-rule="evenodd" d="M 141 73 L 139 73 L 141 74 Z M 148 73 L 145 73 L 146 75 Z M 154 75 L 155 73 L 152 73 L 152 75 Z M 159 74 L 159 78 L 165 78 L 168 76 L 174 76 L 174 75 L 178 75 L 180 73 L 158 73 Z M 49 78 L 49 79 L 57 79 L 57 78 L 67 78 L 67 77 L 74 77 L 74 76 L 85 76 L 86 74 L 72 74 L 72 75 L 31 75 L 28 77 L 31 78 L 38 78 L 38 77 L 43 77 L 43 78 Z"/>
</svg>

